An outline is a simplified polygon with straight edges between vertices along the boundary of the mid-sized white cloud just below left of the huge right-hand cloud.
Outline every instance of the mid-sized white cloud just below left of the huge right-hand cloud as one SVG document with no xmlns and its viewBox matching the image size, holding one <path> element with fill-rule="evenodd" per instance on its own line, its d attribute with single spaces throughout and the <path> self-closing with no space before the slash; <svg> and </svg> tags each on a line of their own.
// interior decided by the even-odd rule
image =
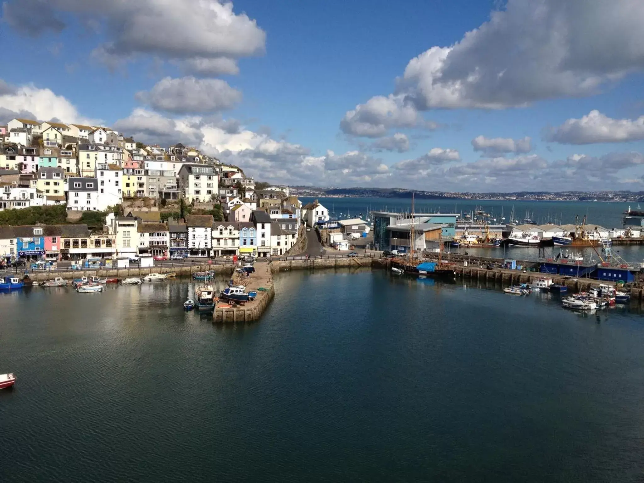
<svg viewBox="0 0 644 483">
<path fill-rule="evenodd" d="M 372 97 L 347 111 L 340 122 L 345 134 L 370 138 L 383 137 L 390 128 L 417 127 L 436 129 L 438 124 L 424 120 L 411 102 L 394 95 Z"/>
</svg>

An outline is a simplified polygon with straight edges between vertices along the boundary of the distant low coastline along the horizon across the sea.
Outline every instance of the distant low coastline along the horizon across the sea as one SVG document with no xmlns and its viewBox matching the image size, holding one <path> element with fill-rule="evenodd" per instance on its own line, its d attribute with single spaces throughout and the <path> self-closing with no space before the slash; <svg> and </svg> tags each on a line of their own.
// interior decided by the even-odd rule
<svg viewBox="0 0 644 483">
<path fill-rule="evenodd" d="M 320 198 L 415 198 L 420 200 L 527 200 L 527 201 L 597 201 L 644 202 L 644 192 L 638 191 L 516 191 L 514 193 L 455 193 L 401 188 L 319 188 L 292 186 L 290 193 Z"/>
</svg>

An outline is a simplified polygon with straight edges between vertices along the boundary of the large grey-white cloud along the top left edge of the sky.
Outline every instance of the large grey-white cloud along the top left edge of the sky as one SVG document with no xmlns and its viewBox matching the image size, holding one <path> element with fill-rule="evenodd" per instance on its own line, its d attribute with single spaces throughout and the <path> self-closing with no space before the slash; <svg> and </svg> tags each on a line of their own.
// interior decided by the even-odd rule
<svg viewBox="0 0 644 483">
<path fill-rule="evenodd" d="M 3 19 L 27 35 L 61 32 L 81 19 L 102 26 L 100 58 L 238 59 L 265 50 L 266 34 L 223 0 L 8 0 Z M 70 18 L 71 15 L 71 18 Z"/>
</svg>

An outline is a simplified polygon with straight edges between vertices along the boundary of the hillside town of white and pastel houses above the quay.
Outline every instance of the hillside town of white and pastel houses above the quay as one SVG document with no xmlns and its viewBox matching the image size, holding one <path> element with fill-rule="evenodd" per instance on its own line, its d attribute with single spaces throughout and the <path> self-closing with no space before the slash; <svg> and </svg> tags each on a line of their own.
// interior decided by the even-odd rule
<svg viewBox="0 0 644 483">
<path fill-rule="evenodd" d="M 281 256 L 305 225 L 329 219 L 288 187 L 259 189 L 239 167 L 180 143 L 147 146 L 102 126 L 22 118 L 0 126 L 0 139 L 0 211 L 65 205 L 73 223 L 0 226 L 2 263 Z M 222 216 L 207 214 L 219 207 Z M 79 223 L 88 211 L 105 213 L 102 227 Z"/>
</svg>

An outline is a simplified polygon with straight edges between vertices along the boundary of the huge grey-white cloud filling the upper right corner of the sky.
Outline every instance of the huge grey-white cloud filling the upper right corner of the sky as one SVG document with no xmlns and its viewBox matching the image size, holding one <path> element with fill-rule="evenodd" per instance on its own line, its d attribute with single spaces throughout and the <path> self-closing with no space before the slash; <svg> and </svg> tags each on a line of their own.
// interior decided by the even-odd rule
<svg viewBox="0 0 644 483">
<path fill-rule="evenodd" d="M 459 42 L 413 58 L 392 96 L 422 111 L 594 95 L 644 68 L 643 21 L 639 0 L 507 0 Z"/>
</svg>

